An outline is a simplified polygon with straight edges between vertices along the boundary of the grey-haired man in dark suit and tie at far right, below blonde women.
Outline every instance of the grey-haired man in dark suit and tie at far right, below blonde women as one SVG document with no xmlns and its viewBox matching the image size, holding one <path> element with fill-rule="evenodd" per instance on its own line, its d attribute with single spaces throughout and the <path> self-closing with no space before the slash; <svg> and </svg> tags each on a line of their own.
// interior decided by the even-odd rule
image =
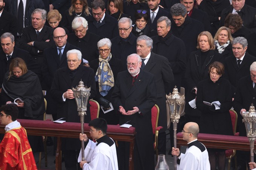
<svg viewBox="0 0 256 170">
<path fill-rule="evenodd" d="M 256 57 L 246 53 L 247 45 L 244 37 L 233 39 L 233 55 L 225 59 L 224 78 L 230 81 L 233 98 L 240 79 L 250 74 L 250 65 L 256 61 Z"/>
</svg>

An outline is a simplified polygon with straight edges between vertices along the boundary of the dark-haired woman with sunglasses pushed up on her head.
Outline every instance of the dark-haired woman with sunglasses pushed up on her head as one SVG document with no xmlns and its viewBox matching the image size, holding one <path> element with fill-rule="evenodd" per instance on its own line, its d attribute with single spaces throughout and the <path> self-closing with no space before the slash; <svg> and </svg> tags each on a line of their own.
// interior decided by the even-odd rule
<svg viewBox="0 0 256 170">
<path fill-rule="evenodd" d="M 135 25 L 131 31 L 136 37 L 146 35 L 149 37 L 157 35 L 157 32 L 148 25 L 148 13 L 146 10 L 137 10 L 134 14 Z"/>
</svg>

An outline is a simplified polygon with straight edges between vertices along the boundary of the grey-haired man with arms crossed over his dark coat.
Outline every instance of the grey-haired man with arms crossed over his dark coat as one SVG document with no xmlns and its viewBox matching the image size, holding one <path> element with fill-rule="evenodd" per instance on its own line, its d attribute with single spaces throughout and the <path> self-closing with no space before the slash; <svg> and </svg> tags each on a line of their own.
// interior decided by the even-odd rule
<svg viewBox="0 0 256 170">
<path fill-rule="evenodd" d="M 32 13 L 32 26 L 23 29 L 20 48 L 28 51 L 41 66 L 44 49 L 53 45 L 53 30 L 45 26 L 47 13 L 44 9 L 35 9 Z"/>
</svg>

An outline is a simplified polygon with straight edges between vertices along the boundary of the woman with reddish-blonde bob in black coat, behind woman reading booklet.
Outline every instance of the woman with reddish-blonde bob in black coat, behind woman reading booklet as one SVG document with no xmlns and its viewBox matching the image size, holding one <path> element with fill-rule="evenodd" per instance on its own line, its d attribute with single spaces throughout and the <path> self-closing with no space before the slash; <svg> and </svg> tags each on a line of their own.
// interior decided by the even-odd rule
<svg viewBox="0 0 256 170">
<path fill-rule="evenodd" d="M 212 35 L 209 32 L 201 32 L 197 38 L 197 51 L 190 53 L 185 72 L 186 82 L 186 121 L 200 124 L 201 111 L 192 108 L 189 102 L 197 97 L 197 86 L 201 80 L 208 77 L 209 65 L 215 61 L 221 61 L 222 56 L 215 51 Z"/>
</svg>

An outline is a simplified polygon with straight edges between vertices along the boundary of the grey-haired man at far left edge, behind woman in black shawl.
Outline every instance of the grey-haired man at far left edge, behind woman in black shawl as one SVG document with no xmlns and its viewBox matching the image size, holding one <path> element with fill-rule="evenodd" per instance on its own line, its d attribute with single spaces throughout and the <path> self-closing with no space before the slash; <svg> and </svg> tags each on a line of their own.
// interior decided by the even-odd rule
<svg viewBox="0 0 256 170">
<path fill-rule="evenodd" d="M 17 57 L 23 59 L 27 65 L 27 69 L 37 74 L 40 80 L 42 79 L 41 68 L 29 52 L 15 47 L 14 35 L 7 32 L 4 33 L 0 39 L 3 49 L 0 50 L 0 88 L 2 87 L 5 73 L 9 71 L 11 60 Z"/>
</svg>

